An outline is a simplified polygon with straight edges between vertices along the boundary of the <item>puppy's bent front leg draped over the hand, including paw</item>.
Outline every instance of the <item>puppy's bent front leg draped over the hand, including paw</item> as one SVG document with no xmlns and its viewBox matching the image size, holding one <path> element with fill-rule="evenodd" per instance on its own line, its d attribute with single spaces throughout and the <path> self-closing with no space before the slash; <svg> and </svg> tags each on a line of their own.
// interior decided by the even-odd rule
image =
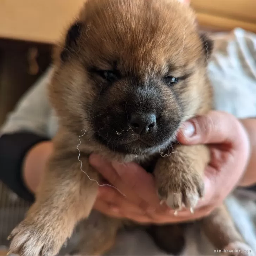
<svg viewBox="0 0 256 256">
<path fill-rule="evenodd" d="M 203 145 L 178 146 L 160 158 L 154 169 L 160 199 L 177 212 L 183 204 L 193 211 L 204 194 L 203 173 L 209 160 L 209 149 Z"/>
</svg>

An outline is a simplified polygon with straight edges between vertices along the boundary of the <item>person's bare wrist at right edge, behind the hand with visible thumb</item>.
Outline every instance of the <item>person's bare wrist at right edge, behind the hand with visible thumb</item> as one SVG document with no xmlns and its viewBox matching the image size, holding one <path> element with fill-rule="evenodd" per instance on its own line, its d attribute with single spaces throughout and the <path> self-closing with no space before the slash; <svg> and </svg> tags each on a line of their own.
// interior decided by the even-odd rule
<svg viewBox="0 0 256 256">
<path fill-rule="evenodd" d="M 251 155 L 244 177 L 240 181 L 239 185 L 252 186 L 256 184 L 256 118 L 243 119 L 241 122 L 249 136 Z"/>
</svg>

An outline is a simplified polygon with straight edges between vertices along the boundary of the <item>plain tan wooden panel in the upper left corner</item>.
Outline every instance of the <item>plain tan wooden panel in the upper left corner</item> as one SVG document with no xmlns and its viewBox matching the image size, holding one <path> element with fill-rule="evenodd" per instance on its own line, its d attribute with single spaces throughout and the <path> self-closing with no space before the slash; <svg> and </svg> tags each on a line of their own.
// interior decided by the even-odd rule
<svg viewBox="0 0 256 256">
<path fill-rule="evenodd" d="M 0 0 L 0 38 L 55 43 L 84 0 Z"/>
</svg>

